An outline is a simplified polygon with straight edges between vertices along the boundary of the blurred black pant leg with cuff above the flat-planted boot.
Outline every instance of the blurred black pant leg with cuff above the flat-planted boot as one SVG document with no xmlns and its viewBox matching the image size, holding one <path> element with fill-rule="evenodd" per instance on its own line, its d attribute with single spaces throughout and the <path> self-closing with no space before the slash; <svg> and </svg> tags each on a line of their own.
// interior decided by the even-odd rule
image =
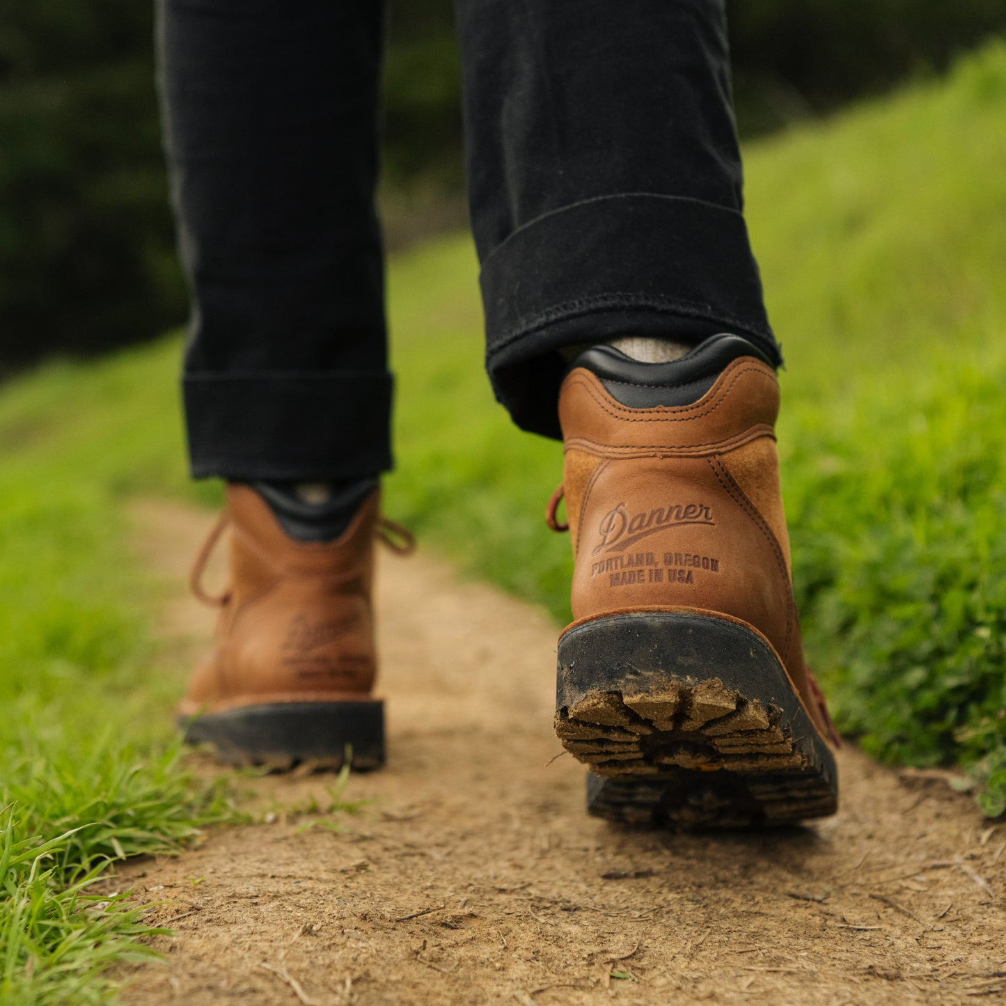
<svg viewBox="0 0 1006 1006">
<path fill-rule="evenodd" d="M 376 474 L 391 401 L 373 205 L 383 5 L 158 6 L 192 473 Z"/>
</svg>

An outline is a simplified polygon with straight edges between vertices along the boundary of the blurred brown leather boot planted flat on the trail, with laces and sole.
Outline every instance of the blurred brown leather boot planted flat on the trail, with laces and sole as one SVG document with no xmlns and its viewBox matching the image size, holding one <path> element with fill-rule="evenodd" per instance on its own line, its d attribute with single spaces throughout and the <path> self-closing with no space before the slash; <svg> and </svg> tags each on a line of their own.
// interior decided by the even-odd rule
<svg viewBox="0 0 1006 1006">
<path fill-rule="evenodd" d="M 224 515 L 192 575 L 196 596 L 221 611 L 215 645 L 179 708 L 186 740 L 213 743 L 237 764 L 340 765 L 351 748 L 354 768 L 383 765 L 384 707 L 370 693 L 373 540 L 380 533 L 408 551 L 411 539 L 378 517 L 378 507 L 374 492 L 336 540 L 301 542 L 254 489 L 227 487 Z M 207 598 L 202 567 L 228 523 L 230 586 Z"/>
</svg>

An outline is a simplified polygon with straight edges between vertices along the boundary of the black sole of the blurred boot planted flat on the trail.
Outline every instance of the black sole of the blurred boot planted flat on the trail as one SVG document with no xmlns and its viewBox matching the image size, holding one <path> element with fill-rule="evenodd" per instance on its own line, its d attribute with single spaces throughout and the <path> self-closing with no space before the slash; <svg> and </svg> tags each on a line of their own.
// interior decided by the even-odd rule
<svg viewBox="0 0 1006 1006">
<path fill-rule="evenodd" d="M 283 771 L 302 763 L 339 769 L 346 760 L 357 771 L 384 764 L 384 703 L 272 702 L 236 706 L 179 725 L 190 744 L 210 743 L 230 765 L 267 765 Z"/>
</svg>

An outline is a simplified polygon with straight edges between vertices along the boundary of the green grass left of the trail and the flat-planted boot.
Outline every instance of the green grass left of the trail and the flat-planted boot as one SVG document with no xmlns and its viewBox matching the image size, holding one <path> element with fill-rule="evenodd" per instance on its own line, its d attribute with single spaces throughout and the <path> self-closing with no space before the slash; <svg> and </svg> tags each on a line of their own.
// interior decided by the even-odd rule
<svg viewBox="0 0 1006 1006">
<path fill-rule="evenodd" d="M 179 764 L 178 679 L 155 662 L 155 595 L 124 533 L 125 494 L 165 484 L 144 423 L 177 440 L 170 381 L 160 398 L 144 390 L 164 380 L 157 362 L 54 367 L 0 396 L 3 1003 L 107 1002 L 103 974 L 149 956 L 138 941 L 152 931 L 95 882 L 228 815 Z"/>
</svg>

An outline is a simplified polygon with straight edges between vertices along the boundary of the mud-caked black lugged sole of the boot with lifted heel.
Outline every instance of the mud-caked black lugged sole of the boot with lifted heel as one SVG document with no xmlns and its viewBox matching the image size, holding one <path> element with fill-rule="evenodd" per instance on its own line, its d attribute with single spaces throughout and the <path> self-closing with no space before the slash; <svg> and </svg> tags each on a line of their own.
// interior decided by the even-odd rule
<svg viewBox="0 0 1006 1006">
<path fill-rule="evenodd" d="M 779 658 L 710 616 L 641 612 L 567 630 L 555 732 L 591 770 L 588 811 L 672 828 L 835 813 L 835 760 Z"/>
</svg>

